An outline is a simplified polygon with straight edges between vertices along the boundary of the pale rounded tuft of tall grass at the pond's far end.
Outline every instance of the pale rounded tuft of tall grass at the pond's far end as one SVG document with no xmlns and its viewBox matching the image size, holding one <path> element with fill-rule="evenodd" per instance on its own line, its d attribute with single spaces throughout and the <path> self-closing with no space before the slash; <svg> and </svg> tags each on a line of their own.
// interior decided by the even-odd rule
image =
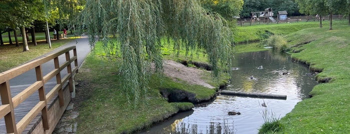
<svg viewBox="0 0 350 134">
<path fill-rule="evenodd" d="M 277 51 L 287 51 L 287 41 L 282 35 L 272 35 L 267 39 L 266 43 Z"/>
</svg>

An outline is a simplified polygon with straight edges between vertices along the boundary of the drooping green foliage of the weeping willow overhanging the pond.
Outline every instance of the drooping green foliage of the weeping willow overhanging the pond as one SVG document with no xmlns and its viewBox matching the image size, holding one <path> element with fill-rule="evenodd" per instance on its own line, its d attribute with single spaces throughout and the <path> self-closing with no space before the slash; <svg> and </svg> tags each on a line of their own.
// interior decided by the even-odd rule
<svg viewBox="0 0 350 134">
<path fill-rule="evenodd" d="M 186 49 L 191 57 L 204 51 L 216 78 L 231 63 L 230 28 L 199 0 L 87 0 L 82 13 L 90 44 L 94 46 L 98 37 L 107 53 L 116 53 L 117 48 L 121 55 L 122 89 L 128 100 L 147 94 L 152 62 L 162 72 L 162 43 L 173 42 L 177 54 Z M 112 34 L 117 34 L 117 41 L 111 41 Z"/>
</svg>

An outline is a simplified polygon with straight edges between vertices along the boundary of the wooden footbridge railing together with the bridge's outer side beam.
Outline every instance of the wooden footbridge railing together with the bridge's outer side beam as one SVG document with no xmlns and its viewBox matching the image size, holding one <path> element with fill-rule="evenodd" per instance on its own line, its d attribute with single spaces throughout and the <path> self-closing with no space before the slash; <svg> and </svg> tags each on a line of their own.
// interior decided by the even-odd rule
<svg viewBox="0 0 350 134">
<path fill-rule="evenodd" d="M 70 54 L 70 52 L 72 52 L 71 50 L 73 50 L 72 57 Z M 66 60 L 60 65 L 59 56 L 64 53 Z M 55 68 L 44 76 L 42 65 L 52 59 L 54 59 Z M 71 65 L 73 62 L 74 65 Z M 33 79 L 36 79 L 36 81 L 13 97 L 12 94 L 14 93 L 12 92 L 13 89 L 10 89 L 10 80 L 32 69 L 35 69 Z M 64 69 L 67 69 L 67 74 L 62 78 L 61 71 Z M 74 88 L 73 77 L 77 71 L 77 50 L 76 46 L 71 46 L 60 50 L 57 53 L 0 73 L 0 95 L 2 102 L 2 105 L 0 106 L 0 118 L 5 118 L 7 133 L 22 133 L 31 121 L 37 116 L 40 116 L 40 114 L 41 121 L 37 124 L 38 126 L 36 126 L 38 128 L 33 130 L 33 133 L 52 133 L 68 105 L 68 102 L 71 100 L 70 92 L 72 92 Z M 54 87 L 46 94 L 46 86 L 44 85 L 54 77 L 56 77 L 56 84 L 54 84 Z M 69 90 L 65 90 L 65 88 L 69 88 Z M 39 98 L 36 98 L 39 99 L 39 102 L 37 102 L 20 121 L 16 120 L 14 109 L 24 101 L 28 101 L 26 99 L 34 92 L 39 92 L 39 95 L 37 96 Z M 33 103 L 33 101 L 30 101 L 30 103 Z M 52 106 L 55 104 L 57 106 Z M 19 111 L 16 110 L 16 112 Z"/>
</svg>

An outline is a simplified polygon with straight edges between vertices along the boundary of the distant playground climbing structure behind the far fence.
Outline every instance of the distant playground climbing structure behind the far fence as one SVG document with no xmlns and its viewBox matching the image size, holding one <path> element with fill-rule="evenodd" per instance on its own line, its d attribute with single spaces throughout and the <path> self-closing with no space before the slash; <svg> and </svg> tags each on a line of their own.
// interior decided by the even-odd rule
<svg viewBox="0 0 350 134">
<path fill-rule="evenodd" d="M 263 22 L 267 23 L 269 22 L 269 20 L 271 20 L 272 22 L 276 22 L 276 20 L 272 17 L 272 8 L 265 8 L 265 11 L 252 11 L 251 16 L 252 22 L 254 22 L 255 20 L 263 20 Z"/>
</svg>

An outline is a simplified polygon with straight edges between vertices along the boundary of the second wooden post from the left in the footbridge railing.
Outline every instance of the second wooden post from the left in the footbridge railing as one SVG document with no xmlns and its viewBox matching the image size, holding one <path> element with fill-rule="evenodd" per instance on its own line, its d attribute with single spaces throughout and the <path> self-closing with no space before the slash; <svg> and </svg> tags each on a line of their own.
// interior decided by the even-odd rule
<svg viewBox="0 0 350 134">
<path fill-rule="evenodd" d="M 42 109 L 42 118 L 43 118 L 44 129 L 47 130 L 47 129 L 50 129 L 50 126 L 49 126 L 49 115 L 48 115 L 48 102 L 46 101 L 46 96 L 45 96 L 46 94 L 45 86 L 44 86 L 45 82 L 43 81 L 44 78 L 43 78 L 42 65 L 35 67 L 35 72 L 37 75 L 37 81 L 42 81 L 43 83 L 43 86 L 41 86 L 38 91 L 39 91 L 39 100 L 45 102 L 45 106 Z"/>
</svg>

